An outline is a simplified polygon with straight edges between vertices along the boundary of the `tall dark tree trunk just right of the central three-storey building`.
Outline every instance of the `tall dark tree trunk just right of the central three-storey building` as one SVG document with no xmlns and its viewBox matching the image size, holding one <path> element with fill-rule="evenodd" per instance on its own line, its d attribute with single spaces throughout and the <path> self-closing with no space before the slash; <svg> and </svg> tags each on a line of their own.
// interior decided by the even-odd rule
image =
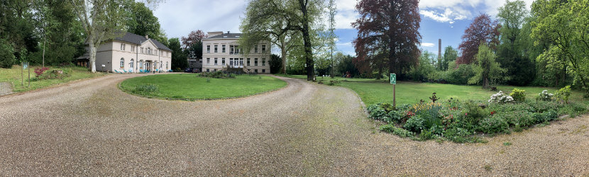
<svg viewBox="0 0 589 177">
<path fill-rule="evenodd" d="M 311 37 L 309 35 L 309 14 L 307 13 L 307 3 L 304 0 L 299 0 L 301 11 L 303 13 L 302 19 L 302 33 L 304 40 L 304 60 L 307 64 L 307 81 L 312 81 L 314 74 L 313 53 L 311 49 Z"/>
</svg>

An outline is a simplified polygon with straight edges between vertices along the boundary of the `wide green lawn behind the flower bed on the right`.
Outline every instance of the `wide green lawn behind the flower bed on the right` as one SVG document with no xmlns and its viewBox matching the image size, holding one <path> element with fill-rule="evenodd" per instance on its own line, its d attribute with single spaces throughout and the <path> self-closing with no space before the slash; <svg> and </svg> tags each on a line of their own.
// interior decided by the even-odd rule
<svg viewBox="0 0 589 177">
<path fill-rule="evenodd" d="M 285 75 L 281 75 L 285 76 Z M 307 76 L 301 75 L 289 75 L 288 77 L 297 79 L 307 79 Z M 387 80 L 375 80 L 375 79 L 346 79 L 336 77 L 331 79 L 329 77 L 322 78 L 321 76 L 316 77 L 317 81 L 324 81 L 329 83 L 330 80 L 341 81 L 337 86 L 344 86 L 356 91 L 362 101 L 366 105 L 373 103 L 392 103 L 392 85 Z M 558 88 L 545 88 L 545 87 L 532 87 L 532 86 L 497 86 L 497 89 L 503 92 L 510 93 L 512 89 L 524 89 L 527 93 L 528 99 L 535 99 L 541 91 L 548 90 L 550 93 L 554 93 Z M 436 96 L 440 97 L 441 100 L 447 100 L 449 98 L 459 100 L 476 100 L 476 101 L 488 101 L 490 96 L 496 91 L 487 91 L 482 89 L 481 86 L 460 86 L 452 84 L 432 84 L 432 83 L 417 83 L 408 81 L 397 81 L 397 104 L 414 104 L 418 103 L 419 100 L 429 101 L 431 93 L 436 92 Z M 571 94 L 572 101 L 582 101 L 588 103 L 589 101 L 583 99 L 583 93 L 580 91 L 573 91 Z"/>
</svg>

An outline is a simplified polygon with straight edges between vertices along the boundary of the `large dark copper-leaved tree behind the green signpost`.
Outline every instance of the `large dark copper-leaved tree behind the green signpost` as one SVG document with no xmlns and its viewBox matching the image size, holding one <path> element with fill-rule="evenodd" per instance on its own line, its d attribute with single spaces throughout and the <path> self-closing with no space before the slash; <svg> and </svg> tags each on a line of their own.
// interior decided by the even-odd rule
<svg viewBox="0 0 589 177">
<path fill-rule="evenodd" d="M 385 64 L 389 72 L 403 75 L 417 65 L 419 48 L 419 1 L 361 0 L 356 5 L 360 18 L 352 23 L 358 29 L 354 40 L 358 61 Z M 378 78 L 382 69 L 378 69 Z"/>
</svg>

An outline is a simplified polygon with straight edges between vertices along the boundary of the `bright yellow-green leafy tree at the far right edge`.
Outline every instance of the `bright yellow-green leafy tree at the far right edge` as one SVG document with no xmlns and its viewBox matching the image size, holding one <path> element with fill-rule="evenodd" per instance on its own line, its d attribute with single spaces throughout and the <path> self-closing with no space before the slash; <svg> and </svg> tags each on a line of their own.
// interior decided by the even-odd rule
<svg viewBox="0 0 589 177">
<path fill-rule="evenodd" d="M 532 4 L 536 21 L 532 22 L 532 38 L 536 45 L 551 41 L 549 50 L 538 57 L 539 62 L 562 63 L 571 74 L 573 84 L 589 94 L 589 1 L 538 0 Z"/>
</svg>

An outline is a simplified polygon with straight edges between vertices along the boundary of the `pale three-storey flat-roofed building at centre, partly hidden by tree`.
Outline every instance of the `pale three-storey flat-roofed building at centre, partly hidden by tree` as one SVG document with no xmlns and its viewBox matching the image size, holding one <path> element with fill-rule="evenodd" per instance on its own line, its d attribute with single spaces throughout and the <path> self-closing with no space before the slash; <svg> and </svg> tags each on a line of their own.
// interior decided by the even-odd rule
<svg viewBox="0 0 589 177">
<path fill-rule="evenodd" d="M 237 44 L 240 35 L 229 31 L 209 32 L 209 38 L 202 40 L 202 72 L 241 68 L 243 72 L 270 74 L 270 42 L 259 42 L 245 56 Z"/>
</svg>

